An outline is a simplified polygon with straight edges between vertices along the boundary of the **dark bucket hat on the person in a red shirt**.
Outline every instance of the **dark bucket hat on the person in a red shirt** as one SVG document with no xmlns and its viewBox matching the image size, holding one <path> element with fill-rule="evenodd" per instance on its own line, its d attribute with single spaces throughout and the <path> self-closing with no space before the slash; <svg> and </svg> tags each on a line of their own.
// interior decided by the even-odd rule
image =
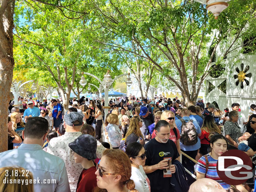
<svg viewBox="0 0 256 192">
<path fill-rule="evenodd" d="M 68 146 L 79 156 L 93 160 L 96 159 L 97 140 L 88 134 L 80 135 Z"/>
</svg>

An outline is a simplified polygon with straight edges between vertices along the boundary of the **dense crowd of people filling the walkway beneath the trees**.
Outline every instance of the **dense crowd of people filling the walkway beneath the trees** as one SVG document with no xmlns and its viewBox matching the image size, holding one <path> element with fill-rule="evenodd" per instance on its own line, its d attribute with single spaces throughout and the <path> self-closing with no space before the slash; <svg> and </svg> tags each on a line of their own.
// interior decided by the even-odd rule
<svg viewBox="0 0 256 192">
<path fill-rule="evenodd" d="M 10 101 L 0 192 L 229 191 L 217 173 L 218 157 L 238 149 L 256 158 L 256 105 L 248 117 L 238 103 L 231 109 L 222 112 L 201 98 L 186 106 L 178 97 L 159 95 L 152 100 L 74 98 L 65 110 L 61 98 L 19 97 L 18 106 Z M 186 154 L 182 161 L 181 153 Z M 15 178 L 42 182 L 2 182 Z M 254 182 L 235 187 L 251 192 Z"/>
</svg>

